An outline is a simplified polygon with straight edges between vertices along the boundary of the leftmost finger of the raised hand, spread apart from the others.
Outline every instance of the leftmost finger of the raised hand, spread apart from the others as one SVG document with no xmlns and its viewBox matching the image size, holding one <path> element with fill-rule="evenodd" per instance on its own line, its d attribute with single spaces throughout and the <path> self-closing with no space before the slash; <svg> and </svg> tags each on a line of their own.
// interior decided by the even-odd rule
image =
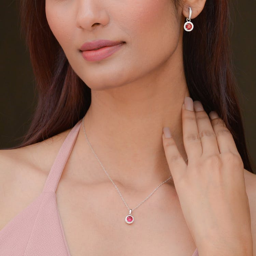
<svg viewBox="0 0 256 256">
<path fill-rule="evenodd" d="M 163 127 L 162 139 L 168 166 L 171 171 L 174 184 L 177 184 L 184 174 L 187 165 L 181 156 L 175 141 L 171 137 L 169 127 Z"/>
</svg>

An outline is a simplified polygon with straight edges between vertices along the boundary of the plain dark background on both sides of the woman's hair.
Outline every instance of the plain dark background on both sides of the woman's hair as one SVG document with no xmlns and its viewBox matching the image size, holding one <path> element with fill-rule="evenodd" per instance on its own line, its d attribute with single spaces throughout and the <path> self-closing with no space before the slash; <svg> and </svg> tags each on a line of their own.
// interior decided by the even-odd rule
<svg viewBox="0 0 256 256">
<path fill-rule="evenodd" d="M 42 0 L 43 1 L 43 0 Z M 235 8 L 231 46 L 247 146 L 256 162 L 256 1 L 232 1 Z M 25 42 L 20 37 L 18 1 L 0 3 L 0 148 L 17 145 L 29 127 L 37 102 Z M 210 21 L 209 21 L 210 22 Z"/>
</svg>

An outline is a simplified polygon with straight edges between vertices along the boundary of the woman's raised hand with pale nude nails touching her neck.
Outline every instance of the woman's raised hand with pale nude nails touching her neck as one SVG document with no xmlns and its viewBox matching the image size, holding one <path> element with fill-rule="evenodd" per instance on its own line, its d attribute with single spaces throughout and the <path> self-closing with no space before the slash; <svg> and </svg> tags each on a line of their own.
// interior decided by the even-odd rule
<svg viewBox="0 0 256 256">
<path fill-rule="evenodd" d="M 210 120 L 199 101 L 193 104 L 186 97 L 185 105 L 182 127 L 188 165 L 173 138 L 164 134 L 162 138 L 181 209 L 199 255 L 253 255 L 244 166 L 232 134 L 216 112 L 209 113 Z"/>
</svg>

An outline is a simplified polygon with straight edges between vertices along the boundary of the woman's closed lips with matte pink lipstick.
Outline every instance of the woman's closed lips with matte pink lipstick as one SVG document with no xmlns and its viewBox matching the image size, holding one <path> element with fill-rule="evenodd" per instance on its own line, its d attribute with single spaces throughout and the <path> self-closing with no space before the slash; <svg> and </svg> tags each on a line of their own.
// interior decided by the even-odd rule
<svg viewBox="0 0 256 256">
<path fill-rule="evenodd" d="M 98 40 L 83 44 L 80 51 L 84 59 L 99 61 L 118 51 L 124 43 L 123 41 Z"/>
</svg>

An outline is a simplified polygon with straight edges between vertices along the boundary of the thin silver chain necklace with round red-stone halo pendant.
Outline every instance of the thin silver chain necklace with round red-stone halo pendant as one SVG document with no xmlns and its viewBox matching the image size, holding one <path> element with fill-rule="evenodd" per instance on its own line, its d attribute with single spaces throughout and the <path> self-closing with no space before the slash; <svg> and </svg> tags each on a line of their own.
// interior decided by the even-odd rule
<svg viewBox="0 0 256 256">
<path fill-rule="evenodd" d="M 85 132 L 85 128 L 84 128 L 84 117 L 83 117 L 83 130 L 84 130 L 85 139 L 87 140 L 87 142 L 88 142 L 88 144 L 89 144 L 91 150 L 93 151 L 93 154 L 95 155 L 95 157 L 96 157 L 97 160 L 99 161 L 99 163 L 100 163 L 101 167 L 103 168 L 104 172 L 106 173 L 106 175 L 109 177 L 110 181 L 111 181 L 111 182 L 113 183 L 113 185 L 115 186 L 117 192 L 119 193 L 119 195 L 120 195 L 120 197 L 122 198 L 123 202 L 125 203 L 127 209 L 129 210 L 129 214 L 125 217 L 125 222 L 128 223 L 128 224 L 133 223 L 134 217 L 131 215 L 131 212 L 134 211 L 135 209 L 137 209 L 137 208 L 138 208 L 142 203 L 144 203 L 150 196 L 152 196 L 153 193 L 154 193 L 162 184 L 164 184 L 165 182 L 167 182 L 168 180 L 170 180 L 172 176 L 170 176 L 166 181 L 164 181 L 164 182 L 162 182 L 160 185 L 158 185 L 158 186 L 151 192 L 151 194 L 148 195 L 148 196 L 147 196 L 141 203 L 139 203 L 135 208 L 130 209 L 130 208 L 128 207 L 127 203 L 125 202 L 125 200 L 124 200 L 122 194 L 120 193 L 119 189 L 117 188 L 116 184 L 113 182 L 113 180 L 111 179 L 111 177 L 109 176 L 109 174 L 106 172 L 105 168 L 103 167 L 103 165 L 102 165 L 100 159 L 99 159 L 98 156 L 95 154 L 94 149 L 93 149 L 93 147 L 91 146 L 91 144 L 90 144 L 90 142 L 89 142 L 89 140 L 88 140 L 88 138 L 87 138 L 87 136 L 86 136 L 86 132 Z M 187 160 L 188 160 L 188 158 L 186 159 L 186 161 L 187 161 Z"/>
</svg>

